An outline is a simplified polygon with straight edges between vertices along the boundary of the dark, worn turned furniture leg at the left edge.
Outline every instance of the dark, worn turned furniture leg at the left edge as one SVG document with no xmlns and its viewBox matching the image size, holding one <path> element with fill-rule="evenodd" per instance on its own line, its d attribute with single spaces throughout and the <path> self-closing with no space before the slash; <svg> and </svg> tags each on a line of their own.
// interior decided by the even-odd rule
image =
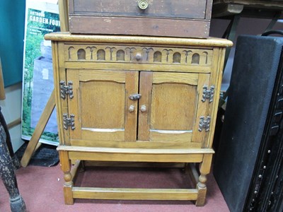
<svg viewBox="0 0 283 212">
<path fill-rule="evenodd" d="M 0 122 L 0 175 L 10 196 L 10 208 L 12 212 L 25 212 L 25 201 L 18 191 L 17 179 L 13 167 L 11 155 L 6 145 L 6 132 Z"/>
</svg>

